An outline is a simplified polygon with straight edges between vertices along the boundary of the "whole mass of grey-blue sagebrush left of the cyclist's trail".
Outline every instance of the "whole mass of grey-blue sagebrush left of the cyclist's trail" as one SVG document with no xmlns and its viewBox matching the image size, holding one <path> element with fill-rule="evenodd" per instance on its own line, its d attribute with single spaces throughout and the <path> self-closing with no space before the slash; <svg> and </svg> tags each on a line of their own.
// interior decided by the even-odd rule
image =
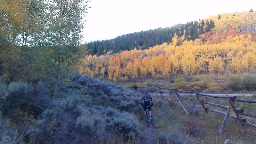
<svg viewBox="0 0 256 144">
<path fill-rule="evenodd" d="M 72 78 L 59 83 L 55 99 L 50 99 L 52 85 L 46 87 L 42 81 L 37 85 L 1 82 L 1 112 L 17 131 L 0 124 L 0 143 L 15 143 L 15 137 L 20 143 L 105 143 L 122 135 L 127 142 L 141 136 L 141 125 L 128 113 L 139 110 L 140 93 L 85 75 Z M 1 122 L 7 125 L 2 117 Z"/>
</svg>

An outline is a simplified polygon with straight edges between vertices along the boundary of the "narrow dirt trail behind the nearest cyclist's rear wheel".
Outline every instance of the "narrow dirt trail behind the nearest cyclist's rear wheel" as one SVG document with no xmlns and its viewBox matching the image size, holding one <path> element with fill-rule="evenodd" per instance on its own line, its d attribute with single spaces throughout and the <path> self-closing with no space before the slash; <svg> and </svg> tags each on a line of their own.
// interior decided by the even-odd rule
<svg viewBox="0 0 256 144">
<path fill-rule="evenodd" d="M 143 136 L 142 136 L 143 140 L 141 141 L 141 143 L 154 144 L 154 137 L 155 137 L 154 124 L 151 122 L 148 127 L 148 125 L 145 122 L 145 125 L 143 125 L 143 129 L 144 129 Z"/>
</svg>

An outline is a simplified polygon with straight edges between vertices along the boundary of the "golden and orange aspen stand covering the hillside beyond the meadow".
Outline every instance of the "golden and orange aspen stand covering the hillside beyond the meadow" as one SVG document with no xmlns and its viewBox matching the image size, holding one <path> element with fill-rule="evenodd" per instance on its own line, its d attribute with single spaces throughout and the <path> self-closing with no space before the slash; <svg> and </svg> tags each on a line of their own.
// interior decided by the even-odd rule
<svg viewBox="0 0 256 144">
<path fill-rule="evenodd" d="M 225 19 L 224 15 L 227 15 Z M 144 50 L 137 47 L 120 53 L 109 51 L 105 55 L 88 55 L 79 72 L 109 81 L 145 76 L 255 73 L 255 17 L 255 12 L 212 16 L 209 19 L 214 19 L 211 21 L 216 26 L 211 30 L 207 30 L 207 24 L 204 29 L 198 27 L 202 26 L 203 20 L 195 21 L 191 26 L 186 25 L 184 35 L 174 33 L 170 43 Z M 193 27 L 194 34 L 191 32 Z"/>
</svg>

